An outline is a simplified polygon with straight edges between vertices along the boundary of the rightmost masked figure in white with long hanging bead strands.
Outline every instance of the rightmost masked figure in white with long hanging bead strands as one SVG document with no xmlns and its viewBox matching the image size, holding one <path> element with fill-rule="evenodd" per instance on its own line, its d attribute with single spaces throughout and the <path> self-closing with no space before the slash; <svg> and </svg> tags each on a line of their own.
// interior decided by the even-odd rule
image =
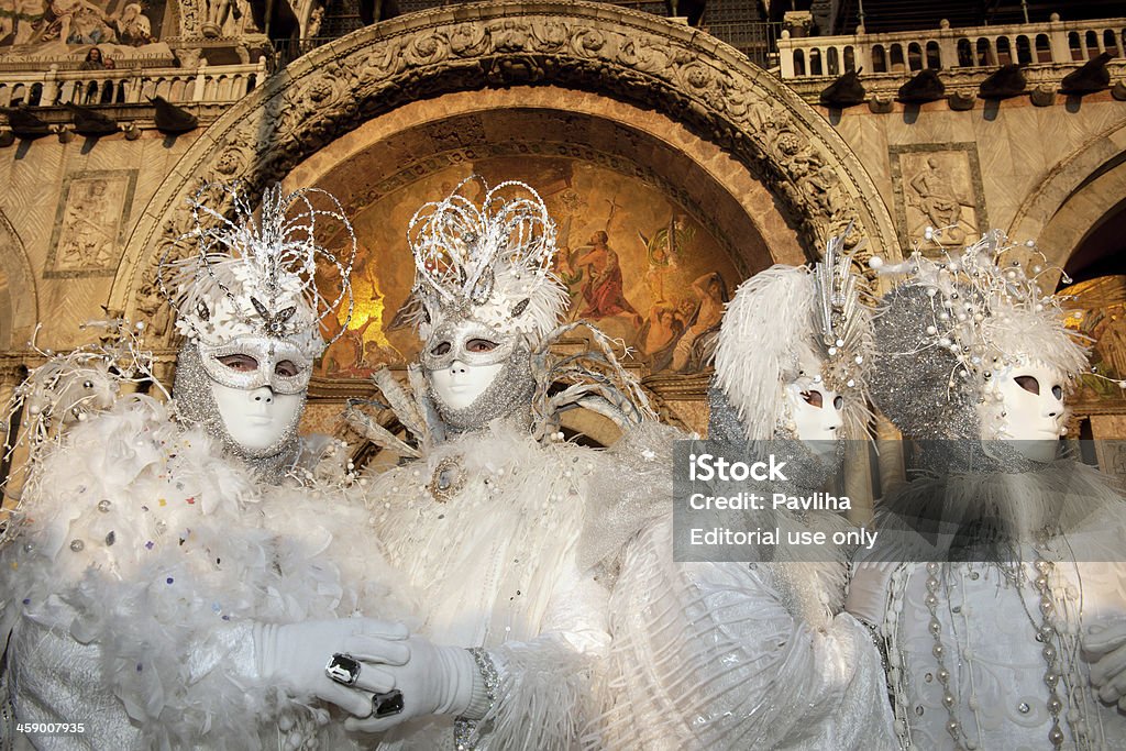
<svg viewBox="0 0 1126 751">
<path fill-rule="evenodd" d="M 1087 357 L 1006 250 L 991 232 L 874 259 L 906 281 L 876 319 L 873 399 L 923 442 L 920 476 L 877 509 L 895 542 L 857 564 L 847 607 L 886 649 L 903 748 L 1121 749 L 1126 506 L 1057 457 Z"/>
</svg>

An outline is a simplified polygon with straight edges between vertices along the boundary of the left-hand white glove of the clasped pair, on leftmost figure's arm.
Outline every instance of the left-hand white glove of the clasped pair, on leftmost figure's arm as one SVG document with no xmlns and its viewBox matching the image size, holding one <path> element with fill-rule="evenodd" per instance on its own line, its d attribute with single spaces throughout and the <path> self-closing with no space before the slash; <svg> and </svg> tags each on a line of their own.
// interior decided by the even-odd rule
<svg viewBox="0 0 1126 751">
<path fill-rule="evenodd" d="M 388 691 L 394 679 L 384 670 L 406 662 L 409 632 L 402 624 L 370 618 L 306 620 L 298 624 L 256 624 L 254 655 L 262 678 L 287 685 L 297 696 L 330 701 L 351 714 L 372 712 L 370 698 L 357 691 Z M 364 665 L 355 687 L 336 682 L 324 673 L 334 652 L 348 652 L 351 640 L 363 636 L 378 651 L 383 665 Z"/>
</svg>

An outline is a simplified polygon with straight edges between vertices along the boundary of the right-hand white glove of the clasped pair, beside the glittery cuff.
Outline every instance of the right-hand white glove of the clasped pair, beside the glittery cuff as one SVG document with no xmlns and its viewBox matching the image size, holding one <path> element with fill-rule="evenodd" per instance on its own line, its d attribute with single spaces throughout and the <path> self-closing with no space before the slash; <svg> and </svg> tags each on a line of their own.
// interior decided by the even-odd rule
<svg viewBox="0 0 1126 751">
<path fill-rule="evenodd" d="M 467 715 L 476 710 L 477 716 L 488 709 L 489 698 L 484 679 L 473 655 L 456 646 L 438 646 L 421 636 L 406 640 L 410 658 L 405 663 L 388 662 L 386 644 L 368 637 L 356 637 L 348 649 L 357 660 L 364 662 L 364 671 L 379 664 L 390 674 L 394 688 L 403 695 L 403 710 L 388 717 L 372 717 L 372 708 L 345 721 L 349 731 L 382 733 L 413 717 L 426 715 Z M 394 658 L 394 654 L 390 655 Z M 384 689 L 386 690 L 386 689 Z"/>
</svg>

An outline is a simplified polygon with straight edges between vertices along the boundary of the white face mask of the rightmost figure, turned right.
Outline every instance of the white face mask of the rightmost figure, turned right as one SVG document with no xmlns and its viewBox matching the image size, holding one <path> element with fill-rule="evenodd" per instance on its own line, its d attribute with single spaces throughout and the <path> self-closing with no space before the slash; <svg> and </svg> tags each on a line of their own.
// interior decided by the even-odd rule
<svg viewBox="0 0 1126 751">
<path fill-rule="evenodd" d="M 1063 381 L 1057 369 L 1038 361 L 994 372 L 978 409 L 982 438 L 1012 441 L 1037 462 L 1054 459 L 1066 432 Z"/>
</svg>

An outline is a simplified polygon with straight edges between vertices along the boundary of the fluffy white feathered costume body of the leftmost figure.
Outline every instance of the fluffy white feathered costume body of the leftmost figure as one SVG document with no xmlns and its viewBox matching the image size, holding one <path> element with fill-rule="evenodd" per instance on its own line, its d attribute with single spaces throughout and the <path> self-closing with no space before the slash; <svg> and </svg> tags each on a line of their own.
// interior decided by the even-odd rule
<svg viewBox="0 0 1126 751">
<path fill-rule="evenodd" d="M 89 728 L 42 748 L 350 743 L 294 699 L 300 687 L 258 678 L 251 631 L 403 616 L 363 506 L 259 485 L 217 441 L 132 396 L 68 433 L 25 508 L 29 528 L 0 569 L 17 717 Z"/>
</svg>

